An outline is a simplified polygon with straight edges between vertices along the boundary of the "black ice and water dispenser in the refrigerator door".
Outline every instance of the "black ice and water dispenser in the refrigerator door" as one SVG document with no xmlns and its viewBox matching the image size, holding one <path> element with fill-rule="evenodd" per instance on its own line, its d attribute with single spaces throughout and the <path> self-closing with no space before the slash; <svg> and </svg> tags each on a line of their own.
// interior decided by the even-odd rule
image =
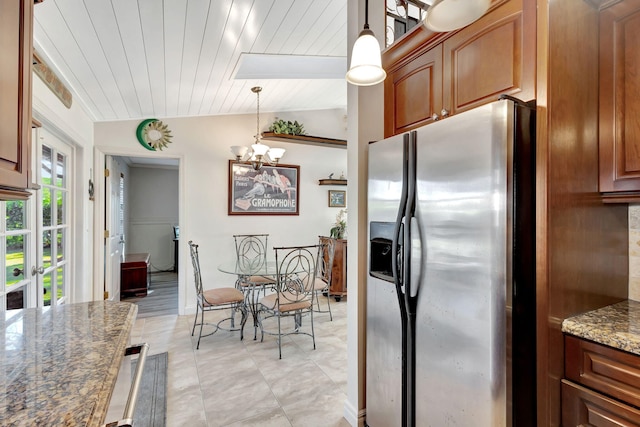
<svg viewBox="0 0 640 427">
<path fill-rule="evenodd" d="M 402 248 L 402 224 L 400 225 L 400 239 L 398 241 L 398 253 Z M 369 275 L 387 282 L 393 280 L 393 262 L 397 262 L 392 250 L 395 222 L 369 223 Z"/>
</svg>

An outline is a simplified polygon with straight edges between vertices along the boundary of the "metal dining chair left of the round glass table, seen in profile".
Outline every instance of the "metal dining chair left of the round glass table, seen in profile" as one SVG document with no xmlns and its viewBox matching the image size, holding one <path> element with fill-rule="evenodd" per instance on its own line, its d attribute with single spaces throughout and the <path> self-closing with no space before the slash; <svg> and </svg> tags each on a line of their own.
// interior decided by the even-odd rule
<svg viewBox="0 0 640 427">
<path fill-rule="evenodd" d="M 240 331 L 240 340 L 244 338 L 244 324 L 247 321 L 247 307 L 244 303 L 244 294 L 236 288 L 224 287 L 204 290 L 202 286 L 202 274 L 200 271 L 200 256 L 198 254 L 198 245 L 189 240 L 189 252 L 191 254 L 191 262 L 193 264 L 193 275 L 196 286 L 197 306 L 196 316 L 193 319 L 193 328 L 191 330 L 191 336 L 195 333 L 196 326 L 200 326 L 200 332 L 198 333 L 198 344 L 196 349 L 200 348 L 200 339 L 209 335 L 215 334 L 218 329 L 224 331 Z M 204 312 L 205 311 L 217 311 L 217 310 L 231 310 L 231 315 L 218 321 L 217 323 L 207 323 L 215 327 L 213 332 L 202 335 L 202 327 L 204 326 Z M 240 319 L 240 326 L 235 326 L 235 313 L 240 311 L 242 318 Z M 198 321 L 198 313 L 200 313 L 200 323 Z M 225 321 L 230 321 L 230 327 L 225 328 L 221 324 Z"/>
</svg>

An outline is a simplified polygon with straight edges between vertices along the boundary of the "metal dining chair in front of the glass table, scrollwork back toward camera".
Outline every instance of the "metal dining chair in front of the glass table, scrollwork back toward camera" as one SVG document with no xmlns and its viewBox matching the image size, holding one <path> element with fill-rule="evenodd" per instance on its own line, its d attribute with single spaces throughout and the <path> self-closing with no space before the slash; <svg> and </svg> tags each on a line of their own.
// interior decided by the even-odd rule
<svg viewBox="0 0 640 427">
<path fill-rule="evenodd" d="M 278 337 L 278 353 L 282 359 L 282 337 L 292 334 L 308 335 L 316 348 L 316 338 L 313 328 L 313 297 L 314 282 L 318 267 L 320 245 L 292 246 L 273 248 L 276 257 L 276 292 L 266 295 L 260 300 L 258 324 L 261 338 L 264 334 Z M 311 331 L 302 330 L 302 316 L 308 315 Z M 275 318 L 273 329 L 265 329 L 265 321 Z M 283 329 L 282 320 L 292 318 L 293 325 Z"/>
</svg>

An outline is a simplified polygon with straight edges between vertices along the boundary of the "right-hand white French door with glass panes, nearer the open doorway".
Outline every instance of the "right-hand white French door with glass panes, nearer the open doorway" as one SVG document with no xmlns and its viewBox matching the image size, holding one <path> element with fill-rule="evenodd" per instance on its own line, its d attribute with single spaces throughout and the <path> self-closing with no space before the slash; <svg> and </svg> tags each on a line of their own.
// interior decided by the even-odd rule
<svg viewBox="0 0 640 427">
<path fill-rule="evenodd" d="M 63 303 L 69 293 L 69 212 L 72 156 L 69 147 L 49 133 L 40 140 L 37 267 L 40 305 Z"/>
</svg>

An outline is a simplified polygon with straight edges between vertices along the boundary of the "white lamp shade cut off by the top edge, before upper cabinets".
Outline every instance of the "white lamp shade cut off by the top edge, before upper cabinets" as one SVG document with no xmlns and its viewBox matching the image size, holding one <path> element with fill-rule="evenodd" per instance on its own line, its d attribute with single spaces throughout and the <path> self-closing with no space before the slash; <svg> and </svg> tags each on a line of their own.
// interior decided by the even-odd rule
<svg viewBox="0 0 640 427">
<path fill-rule="evenodd" d="M 479 19 L 490 5 L 491 0 L 435 0 L 427 10 L 424 25 L 431 31 L 454 31 Z"/>
</svg>

